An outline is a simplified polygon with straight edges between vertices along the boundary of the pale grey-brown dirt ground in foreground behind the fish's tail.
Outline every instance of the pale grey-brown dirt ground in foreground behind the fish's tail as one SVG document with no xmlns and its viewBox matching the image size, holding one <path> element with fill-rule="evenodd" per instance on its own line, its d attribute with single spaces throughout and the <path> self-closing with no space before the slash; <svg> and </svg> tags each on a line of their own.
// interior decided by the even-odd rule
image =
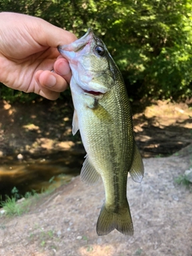
<svg viewBox="0 0 192 256">
<path fill-rule="evenodd" d="M 29 213 L 0 217 L 0 255 L 191 256 L 192 194 L 174 183 L 191 165 L 191 155 L 188 146 L 177 157 L 144 159 L 142 183 L 128 178 L 133 237 L 116 230 L 97 236 L 102 183 L 86 186 L 77 177 L 34 201 Z"/>
</svg>

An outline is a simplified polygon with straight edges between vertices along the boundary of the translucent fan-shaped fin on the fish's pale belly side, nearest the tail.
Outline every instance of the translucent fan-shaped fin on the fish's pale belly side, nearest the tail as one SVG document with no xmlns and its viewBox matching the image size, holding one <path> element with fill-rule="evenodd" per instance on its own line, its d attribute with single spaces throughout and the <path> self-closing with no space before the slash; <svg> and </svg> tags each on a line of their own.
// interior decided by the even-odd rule
<svg viewBox="0 0 192 256">
<path fill-rule="evenodd" d="M 94 166 L 91 164 L 88 155 L 86 155 L 86 160 L 83 162 L 81 175 L 82 182 L 92 185 L 95 182 L 98 182 L 100 175 L 97 170 L 94 169 Z"/>
</svg>

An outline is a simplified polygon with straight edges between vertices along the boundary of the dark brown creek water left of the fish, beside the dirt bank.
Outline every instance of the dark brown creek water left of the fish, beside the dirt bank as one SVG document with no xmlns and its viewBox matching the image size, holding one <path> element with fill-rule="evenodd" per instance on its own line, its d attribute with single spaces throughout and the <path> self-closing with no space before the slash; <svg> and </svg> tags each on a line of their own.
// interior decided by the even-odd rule
<svg viewBox="0 0 192 256">
<path fill-rule="evenodd" d="M 38 193 L 49 186 L 59 186 L 77 176 L 82 168 L 85 152 L 62 151 L 38 158 L 18 160 L 16 156 L 0 158 L 0 198 L 13 195 L 11 190 L 17 188 L 18 194 L 35 190 Z"/>
</svg>

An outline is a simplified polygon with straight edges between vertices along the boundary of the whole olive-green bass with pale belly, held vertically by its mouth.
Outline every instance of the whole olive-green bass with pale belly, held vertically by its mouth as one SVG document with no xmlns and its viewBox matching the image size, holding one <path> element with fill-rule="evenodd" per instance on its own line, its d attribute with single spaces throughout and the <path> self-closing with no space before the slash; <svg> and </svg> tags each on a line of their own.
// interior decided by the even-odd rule
<svg viewBox="0 0 192 256">
<path fill-rule="evenodd" d="M 72 133 L 80 131 L 86 150 L 80 177 L 89 185 L 102 178 L 105 189 L 97 234 L 106 235 L 116 229 L 133 235 L 127 178 L 129 172 L 135 182 L 141 182 L 144 166 L 134 141 L 130 101 L 122 74 L 102 39 L 91 29 L 69 45 L 58 46 L 58 51 L 72 71 Z"/>
</svg>

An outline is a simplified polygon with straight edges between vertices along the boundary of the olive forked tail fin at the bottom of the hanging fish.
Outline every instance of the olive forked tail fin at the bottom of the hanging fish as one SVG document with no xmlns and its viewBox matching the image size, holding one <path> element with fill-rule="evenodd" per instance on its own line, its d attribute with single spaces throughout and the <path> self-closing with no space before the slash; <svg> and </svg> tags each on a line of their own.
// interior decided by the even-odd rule
<svg viewBox="0 0 192 256">
<path fill-rule="evenodd" d="M 118 213 L 106 209 L 105 203 L 102 206 L 97 223 L 98 235 L 109 234 L 114 229 L 122 234 L 134 234 L 134 226 L 130 215 L 129 205 L 126 208 L 119 209 Z"/>
</svg>

